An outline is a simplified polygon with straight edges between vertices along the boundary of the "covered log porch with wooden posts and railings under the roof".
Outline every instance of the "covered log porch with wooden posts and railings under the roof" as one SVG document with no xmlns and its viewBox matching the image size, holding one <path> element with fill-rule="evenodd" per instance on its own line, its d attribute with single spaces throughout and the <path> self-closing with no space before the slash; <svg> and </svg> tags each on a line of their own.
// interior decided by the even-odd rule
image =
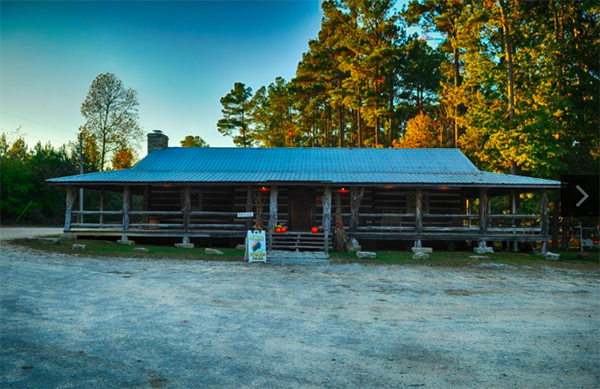
<svg viewBox="0 0 600 389">
<path fill-rule="evenodd" d="M 96 201 L 86 209 L 78 188 Z M 521 194 L 538 212 L 517 214 Z M 109 199 L 110 197 L 110 199 Z M 501 208 L 493 199 L 503 198 Z M 332 229 L 370 240 L 548 242 L 547 189 L 492 185 L 339 185 L 333 183 L 146 183 L 68 185 L 64 230 L 77 236 L 244 238 L 262 226 L 269 249 L 332 247 Z M 252 216 L 248 216 L 249 214 Z M 285 225 L 287 232 L 276 233 Z M 311 228 L 319 228 L 312 233 Z"/>
</svg>

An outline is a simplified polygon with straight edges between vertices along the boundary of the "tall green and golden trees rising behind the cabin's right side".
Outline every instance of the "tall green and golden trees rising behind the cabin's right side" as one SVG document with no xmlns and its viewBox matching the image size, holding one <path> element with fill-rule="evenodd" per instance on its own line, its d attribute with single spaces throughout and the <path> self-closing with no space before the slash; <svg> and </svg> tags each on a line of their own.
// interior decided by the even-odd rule
<svg viewBox="0 0 600 389">
<path fill-rule="evenodd" d="M 458 147 L 480 168 L 556 178 L 600 154 L 594 1 L 328 0 L 296 75 L 221 99 L 250 147 Z M 407 28 L 419 25 L 433 46 Z"/>
</svg>

